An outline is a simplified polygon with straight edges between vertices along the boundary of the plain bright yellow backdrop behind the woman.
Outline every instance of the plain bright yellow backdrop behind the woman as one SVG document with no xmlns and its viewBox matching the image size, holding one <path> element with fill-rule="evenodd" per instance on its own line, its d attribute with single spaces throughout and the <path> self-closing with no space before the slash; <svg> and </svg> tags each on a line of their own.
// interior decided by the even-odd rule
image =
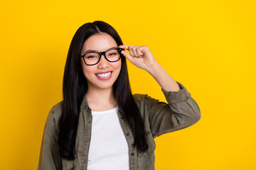
<svg viewBox="0 0 256 170">
<path fill-rule="evenodd" d="M 37 169 L 43 127 L 62 100 L 70 41 L 110 23 L 146 45 L 201 109 L 198 123 L 156 137 L 156 169 L 256 169 L 255 1 L 1 1 L 0 169 Z M 165 101 L 128 64 L 132 92 Z"/>
</svg>

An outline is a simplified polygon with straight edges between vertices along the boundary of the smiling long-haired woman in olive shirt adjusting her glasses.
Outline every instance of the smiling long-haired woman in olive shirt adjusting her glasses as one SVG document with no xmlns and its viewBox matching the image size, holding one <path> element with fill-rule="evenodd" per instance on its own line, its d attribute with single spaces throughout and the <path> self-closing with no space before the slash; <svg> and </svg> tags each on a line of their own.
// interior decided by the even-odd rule
<svg viewBox="0 0 256 170">
<path fill-rule="evenodd" d="M 156 79 L 167 103 L 132 95 L 126 58 Z M 200 118 L 148 47 L 123 45 L 103 21 L 85 23 L 70 44 L 63 101 L 48 114 L 38 169 L 154 169 L 154 138 Z"/>
</svg>

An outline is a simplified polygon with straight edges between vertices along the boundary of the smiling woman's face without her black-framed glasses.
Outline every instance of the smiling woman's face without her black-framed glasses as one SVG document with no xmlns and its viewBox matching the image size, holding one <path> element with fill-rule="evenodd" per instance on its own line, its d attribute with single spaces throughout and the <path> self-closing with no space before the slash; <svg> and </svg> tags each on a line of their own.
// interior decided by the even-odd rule
<svg viewBox="0 0 256 170">
<path fill-rule="evenodd" d="M 102 52 L 117 47 L 117 42 L 107 33 L 97 33 L 90 36 L 82 45 L 81 53 L 87 50 Z M 122 61 L 108 62 L 104 55 L 101 56 L 100 62 L 95 65 L 86 65 L 81 57 L 82 72 L 87 79 L 88 90 L 90 89 L 110 89 L 116 81 Z"/>
</svg>

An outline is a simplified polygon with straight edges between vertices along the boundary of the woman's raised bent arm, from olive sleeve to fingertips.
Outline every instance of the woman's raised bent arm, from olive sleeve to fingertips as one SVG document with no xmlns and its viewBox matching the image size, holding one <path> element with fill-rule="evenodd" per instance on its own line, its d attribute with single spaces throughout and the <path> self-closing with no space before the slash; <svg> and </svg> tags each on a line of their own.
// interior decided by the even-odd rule
<svg viewBox="0 0 256 170">
<path fill-rule="evenodd" d="M 145 69 L 159 83 L 167 103 L 160 102 L 147 95 L 137 95 L 137 101 L 149 118 L 153 137 L 174 132 L 195 124 L 201 118 L 201 111 L 185 86 L 174 81 L 169 74 L 154 60 L 146 46 L 120 45 L 128 52 L 122 51 L 127 59 L 139 68 Z"/>
</svg>

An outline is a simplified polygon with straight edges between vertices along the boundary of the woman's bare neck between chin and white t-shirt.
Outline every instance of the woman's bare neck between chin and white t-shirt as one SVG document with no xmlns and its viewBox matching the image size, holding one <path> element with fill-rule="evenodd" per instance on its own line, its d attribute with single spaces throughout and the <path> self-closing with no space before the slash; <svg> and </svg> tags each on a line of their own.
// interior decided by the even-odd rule
<svg viewBox="0 0 256 170">
<path fill-rule="evenodd" d="M 117 106 L 113 86 L 109 89 L 93 89 L 88 87 L 86 97 L 92 111 L 107 111 Z"/>
</svg>

